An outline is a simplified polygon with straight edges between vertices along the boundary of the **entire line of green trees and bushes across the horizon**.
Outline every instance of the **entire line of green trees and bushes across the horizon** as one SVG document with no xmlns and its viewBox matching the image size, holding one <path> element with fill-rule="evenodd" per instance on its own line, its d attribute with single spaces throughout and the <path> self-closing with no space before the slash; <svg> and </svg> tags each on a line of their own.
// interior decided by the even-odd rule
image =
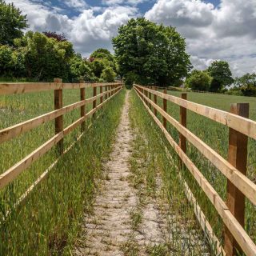
<svg viewBox="0 0 256 256">
<path fill-rule="evenodd" d="M 113 38 L 114 54 L 95 50 L 89 58 L 74 51 L 65 34 L 22 31 L 29 27 L 26 15 L 0 0 L 0 79 L 113 82 L 127 86 L 186 86 L 256 96 L 256 75 L 233 78 L 228 62 L 214 61 L 206 70 L 193 70 L 186 40 L 172 26 L 131 18 Z M 85 45 L 86 48 L 86 45 Z"/>
</svg>

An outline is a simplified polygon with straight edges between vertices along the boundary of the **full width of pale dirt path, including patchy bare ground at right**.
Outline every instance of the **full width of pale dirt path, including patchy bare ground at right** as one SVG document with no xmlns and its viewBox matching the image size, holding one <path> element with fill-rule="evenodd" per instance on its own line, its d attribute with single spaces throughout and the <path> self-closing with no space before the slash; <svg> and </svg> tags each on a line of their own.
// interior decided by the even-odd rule
<svg viewBox="0 0 256 256">
<path fill-rule="evenodd" d="M 93 214 L 84 217 L 81 243 L 74 255 L 179 255 L 168 246 L 172 240 L 168 223 L 173 216 L 168 214 L 168 203 L 161 199 L 162 179 L 154 174 L 156 193 L 154 197 L 147 196 L 148 170 L 143 167 L 146 159 L 134 158 L 132 154 L 136 153 L 134 145 L 141 133 L 136 127 L 131 128 L 129 98 L 127 91 L 113 151 L 102 170 L 104 178 L 99 182 Z M 137 150 L 143 152 L 141 148 Z M 139 163 L 135 169 L 131 167 L 132 161 Z M 138 186 L 134 186 L 136 183 Z"/>
</svg>

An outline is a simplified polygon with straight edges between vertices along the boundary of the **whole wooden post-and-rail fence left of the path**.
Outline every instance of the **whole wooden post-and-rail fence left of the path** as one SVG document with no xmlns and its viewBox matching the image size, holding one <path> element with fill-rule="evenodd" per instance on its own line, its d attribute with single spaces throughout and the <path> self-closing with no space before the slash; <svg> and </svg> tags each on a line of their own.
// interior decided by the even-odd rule
<svg viewBox="0 0 256 256">
<path fill-rule="evenodd" d="M 15 178 L 18 177 L 22 171 L 26 170 L 33 162 L 38 158 L 41 158 L 43 154 L 46 154 L 53 146 L 57 145 L 59 150 L 59 155 L 66 154 L 70 147 L 64 151 L 63 138 L 70 134 L 72 130 L 81 126 L 82 134 L 85 130 L 85 121 L 87 118 L 95 118 L 95 113 L 97 110 L 101 109 L 106 102 L 113 98 L 120 90 L 122 90 L 122 83 L 63 83 L 62 79 L 55 78 L 54 82 L 43 82 L 43 83 L 0 83 L 0 95 L 5 94 L 25 94 L 30 92 L 39 92 L 52 90 L 54 92 L 54 111 L 42 114 L 36 118 L 32 118 L 25 122 L 18 123 L 14 126 L 10 126 L 3 130 L 0 130 L 0 143 L 9 141 L 12 138 L 17 137 L 20 134 L 24 134 L 29 130 L 32 130 L 46 122 L 55 120 L 55 135 L 45 142 L 42 146 L 39 146 L 36 150 L 23 158 L 20 162 L 16 163 L 14 166 L 10 167 L 4 173 L 0 174 L 0 189 L 7 186 L 10 182 L 13 182 Z M 86 89 L 93 88 L 94 94 L 92 98 L 86 98 Z M 99 94 L 97 90 L 100 90 Z M 63 106 L 62 102 L 62 92 L 65 89 L 79 89 L 80 90 L 80 101 L 70 104 L 68 106 Z M 104 92 L 103 92 L 104 89 Z M 99 98 L 100 103 L 97 106 L 97 99 Z M 93 108 L 88 113 L 86 113 L 86 105 L 92 103 Z M 80 108 L 81 118 L 73 122 L 70 126 L 66 128 L 63 127 L 63 115 Z M 82 134 L 77 138 L 80 139 Z M 59 158 L 58 158 L 59 159 Z M 17 205 L 22 202 L 28 194 L 34 189 L 43 178 L 46 177 L 49 170 L 58 162 L 58 159 L 38 178 L 36 182 L 26 193 L 18 199 Z"/>
</svg>

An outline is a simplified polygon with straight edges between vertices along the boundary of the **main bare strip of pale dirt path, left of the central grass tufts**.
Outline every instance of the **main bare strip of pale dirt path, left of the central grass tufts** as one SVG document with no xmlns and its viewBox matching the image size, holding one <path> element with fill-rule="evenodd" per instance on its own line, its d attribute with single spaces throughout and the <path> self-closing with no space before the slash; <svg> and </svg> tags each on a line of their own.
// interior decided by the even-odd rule
<svg viewBox="0 0 256 256">
<path fill-rule="evenodd" d="M 116 142 L 110 161 L 106 163 L 106 178 L 94 202 L 94 214 L 85 219 L 86 245 L 77 249 L 77 255 L 123 255 L 122 243 L 132 232 L 130 211 L 136 204 L 136 197 L 127 181 L 133 136 L 128 117 L 129 94 L 126 93 Z"/>
</svg>

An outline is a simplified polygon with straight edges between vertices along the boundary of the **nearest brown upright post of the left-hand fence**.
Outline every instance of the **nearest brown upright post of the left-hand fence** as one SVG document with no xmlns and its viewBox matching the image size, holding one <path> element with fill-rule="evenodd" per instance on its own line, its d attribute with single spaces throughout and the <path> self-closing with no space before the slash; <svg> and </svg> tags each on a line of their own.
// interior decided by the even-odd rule
<svg viewBox="0 0 256 256">
<path fill-rule="evenodd" d="M 55 86 L 57 87 L 58 84 L 62 84 L 62 79 L 60 78 L 54 78 Z M 61 109 L 63 107 L 63 95 L 62 95 L 62 89 L 54 90 L 54 110 Z M 55 118 L 55 134 L 60 133 L 63 130 L 63 115 L 59 116 L 58 118 Z M 58 151 L 59 154 L 62 154 L 64 151 L 63 146 L 63 138 L 58 142 Z"/>
</svg>

